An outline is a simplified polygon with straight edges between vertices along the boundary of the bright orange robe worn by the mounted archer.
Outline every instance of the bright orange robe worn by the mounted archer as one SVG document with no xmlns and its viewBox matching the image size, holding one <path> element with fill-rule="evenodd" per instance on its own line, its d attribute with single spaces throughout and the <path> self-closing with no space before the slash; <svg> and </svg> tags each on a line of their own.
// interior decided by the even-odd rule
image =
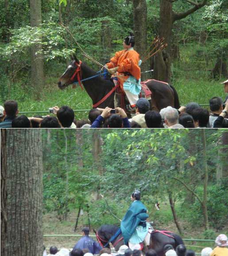
<svg viewBox="0 0 228 256">
<path fill-rule="evenodd" d="M 141 77 L 141 70 L 139 67 L 139 54 L 132 48 L 128 50 L 117 51 L 115 56 L 110 59 L 106 65 L 108 69 L 118 67 L 117 75 L 123 76 L 124 80 L 129 78 L 129 75 L 124 75 L 124 72 L 130 73 L 137 80 Z M 120 87 L 123 89 L 124 81 L 118 78 Z"/>
</svg>

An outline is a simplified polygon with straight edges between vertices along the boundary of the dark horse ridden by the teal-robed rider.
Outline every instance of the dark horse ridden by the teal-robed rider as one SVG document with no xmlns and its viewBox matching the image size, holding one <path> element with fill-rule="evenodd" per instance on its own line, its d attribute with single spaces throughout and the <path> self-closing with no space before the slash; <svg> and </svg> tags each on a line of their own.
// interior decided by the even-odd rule
<svg viewBox="0 0 228 256">
<path fill-rule="evenodd" d="M 114 225 L 102 225 L 98 230 L 97 234 L 98 236 L 104 240 L 102 242 L 103 245 L 106 244 L 106 242 L 116 233 L 116 231 L 119 228 L 114 226 Z M 151 234 L 151 239 L 150 239 L 150 245 L 147 246 L 148 249 L 154 249 L 158 256 L 165 256 L 163 252 L 163 247 L 166 244 L 171 244 L 173 245 L 174 248 L 178 246 L 178 244 L 184 244 L 182 238 L 178 236 L 177 234 L 174 233 L 169 233 L 173 238 L 167 237 L 166 235 L 163 235 L 162 233 L 156 232 Z M 120 234 L 114 241 L 112 241 L 112 244 L 115 244 L 116 241 L 118 241 L 122 237 Z M 115 250 L 118 251 L 120 246 L 124 244 L 124 240 L 120 240 L 118 244 L 115 245 Z"/>
</svg>

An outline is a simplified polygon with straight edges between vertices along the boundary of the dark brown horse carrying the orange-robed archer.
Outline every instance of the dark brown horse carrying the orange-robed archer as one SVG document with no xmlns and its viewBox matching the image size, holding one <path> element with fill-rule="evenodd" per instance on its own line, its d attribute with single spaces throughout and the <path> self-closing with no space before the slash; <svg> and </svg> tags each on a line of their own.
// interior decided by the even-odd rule
<svg viewBox="0 0 228 256">
<path fill-rule="evenodd" d="M 68 85 L 96 76 L 96 72 L 89 68 L 85 62 L 80 62 L 76 57 L 72 57 L 70 65 L 66 71 L 62 74 L 58 81 L 58 87 L 65 89 Z M 100 76 L 83 81 L 86 92 L 93 101 L 93 105 L 99 102 L 111 89 L 114 87 L 114 83 L 111 80 L 104 79 Z M 178 94 L 173 86 L 166 84 L 162 81 L 150 80 L 147 82 L 147 87 L 152 92 L 151 97 L 151 109 L 160 111 L 167 106 L 172 106 L 176 109 L 180 107 Z M 99 108 L 110 107 L 114 108 L 114 93 L 97 105 Z"/>
</svg>

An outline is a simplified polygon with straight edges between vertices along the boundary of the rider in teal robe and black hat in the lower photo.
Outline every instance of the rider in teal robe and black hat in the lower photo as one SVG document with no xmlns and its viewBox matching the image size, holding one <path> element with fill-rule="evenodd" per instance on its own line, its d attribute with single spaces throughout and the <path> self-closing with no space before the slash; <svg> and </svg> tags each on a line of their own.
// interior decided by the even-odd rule
<svg viewBox="0 0 228 256">
<path fill-rule="evenodd" d="M 124 237 L 124 244 L 128 244 L 130 239 L 135 240 L 135 244 L 137 242 L 142 242 L 148 232 L 146 219 L 149 215 L 147 214 L 146 206 L 144 206 L 139 199 L 140 192 L 139 190 L 135 190 L 131 195 L 131 200 L 133 202 L 121 221 L 120 228 Z M 139 231 L 137 233 L 135 232 L 136 228 Z M 136 235 L 137 237 L 133 237 L 132 235 Z"/>
</svg>

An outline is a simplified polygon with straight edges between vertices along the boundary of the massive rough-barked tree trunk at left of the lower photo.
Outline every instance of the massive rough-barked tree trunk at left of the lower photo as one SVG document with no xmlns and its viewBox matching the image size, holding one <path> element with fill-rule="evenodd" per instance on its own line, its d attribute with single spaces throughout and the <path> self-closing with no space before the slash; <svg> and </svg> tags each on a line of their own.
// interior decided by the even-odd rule
<svg viewBox="0 0 228 256">
<path fill-rule="evenodd" d="M 7 239 L 4 256 L 43 255 L 43 162 L 39 129 L 6 131 Z"/>
</svg>

